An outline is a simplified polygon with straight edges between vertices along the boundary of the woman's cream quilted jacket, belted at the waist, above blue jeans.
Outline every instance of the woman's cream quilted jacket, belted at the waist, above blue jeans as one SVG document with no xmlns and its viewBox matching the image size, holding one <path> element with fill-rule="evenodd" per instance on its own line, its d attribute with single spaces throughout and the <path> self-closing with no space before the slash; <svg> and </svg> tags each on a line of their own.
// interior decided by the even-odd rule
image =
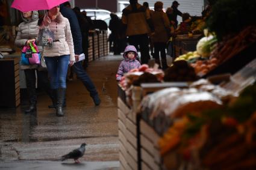
<svg viewBox="0 0 256 170">
<path fill-rule="evenodd" d="M 47 13 L 46 13 L 47 14 Z M 54 32 L 54 43 L 52 47 L 43 47 L 44 56 L 61 56 L 70 55 L 70 61 L 75 61 L 75 53 L 73 47 L 73 38 L 70 30 L 69 20 L 63 17 L 62 14 L 58 14 L 55 20 L 51 20 L 48 23 L 43 20 L 43 26 L 49 26 L 51 31 Z"/>
</svg>

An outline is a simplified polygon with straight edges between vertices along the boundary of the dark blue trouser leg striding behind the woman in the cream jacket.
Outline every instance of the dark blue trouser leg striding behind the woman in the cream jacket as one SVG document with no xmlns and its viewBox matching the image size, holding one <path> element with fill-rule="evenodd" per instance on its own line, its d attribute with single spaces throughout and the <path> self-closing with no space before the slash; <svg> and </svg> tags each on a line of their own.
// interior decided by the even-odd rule
<svg viewBox="0 0 256 170">
<path fill-rule="evenodd" d="M 92 80 L 86 73 L 86 70 L 84 70 L 82 61 L 75 62 L 75 64 L 73 64 L 72 68 L 73 68 L 73 71 L 76 73 L 76 76 L 78 77 L 78 79 L 80 79 L 83 82 L 87 91 L 90 92 L 90 96 L 91 97 L 96 96 L 98 94 L 98 92 L 97 92 L 95 86 L 93 85 Z"/>
</svg>

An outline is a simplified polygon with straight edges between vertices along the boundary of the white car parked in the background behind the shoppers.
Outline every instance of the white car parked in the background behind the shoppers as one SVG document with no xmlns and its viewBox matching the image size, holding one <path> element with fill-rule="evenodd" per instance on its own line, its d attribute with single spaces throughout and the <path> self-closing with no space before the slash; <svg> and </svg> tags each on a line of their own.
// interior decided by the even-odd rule
<svg viewBox="0 0 256 170">
<path fill-rule="evenodd" d="M 100 8 L 85 8 L 81 9 L 81 12 L 86 11 L 87 16 L 90 17 L 91 19 L 97 19 L 97 20 L 104 20 L 107 17 L 110 17 L 110 11 L 108 10 L 103 10 Z"/>
</svg>

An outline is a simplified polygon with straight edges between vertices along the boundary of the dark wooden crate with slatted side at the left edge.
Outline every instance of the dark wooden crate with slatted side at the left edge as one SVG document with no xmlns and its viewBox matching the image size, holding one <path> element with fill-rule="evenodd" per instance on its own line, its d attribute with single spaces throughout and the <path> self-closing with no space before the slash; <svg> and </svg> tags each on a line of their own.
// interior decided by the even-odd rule
<svg viewBox="0 0 256 170">
<path fill-rule="evenodd" d="M 0 106 L 17 107 L 20 105 L 19 58 L 0 60 Z"/>
</svg>

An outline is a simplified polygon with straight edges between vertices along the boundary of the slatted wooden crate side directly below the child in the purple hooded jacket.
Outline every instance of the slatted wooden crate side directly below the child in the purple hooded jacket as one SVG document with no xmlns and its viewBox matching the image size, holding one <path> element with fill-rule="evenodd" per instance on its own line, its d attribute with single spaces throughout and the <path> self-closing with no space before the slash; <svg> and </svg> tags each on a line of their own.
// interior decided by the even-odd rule
<svg viewBox="0 0 256 170">
<path fill-rule="evenodd" d="M 137 114 L 117 99 L 119 127 L 119 160 L 121 169 L 140 169 L 138 153 Z"/>
</svg>

